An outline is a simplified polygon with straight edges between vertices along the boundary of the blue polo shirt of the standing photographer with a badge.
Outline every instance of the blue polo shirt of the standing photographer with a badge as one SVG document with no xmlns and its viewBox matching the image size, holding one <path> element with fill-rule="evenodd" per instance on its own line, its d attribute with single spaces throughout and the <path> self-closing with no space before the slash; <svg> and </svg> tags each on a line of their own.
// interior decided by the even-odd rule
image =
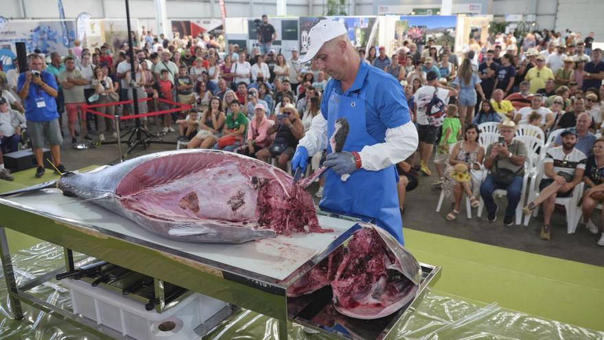
<svg viewBox="0 0 604 340">
<path fill-rule="evenodd" d="M 57 90 L 56 81 L 51 73 L 42 71 L 40 77 L 42 77 L 42 81 L 49 87 Z M 17 79 L 16 91 L 21 91 L 24 84 L 25 73 L 21 73 Z M 38 98 L 44 100 L 44 107 L 38 107 L 38 104 L 36 103 Z M 56 120 L 58 117 L 59 114 L 56 111 L 54 97 L 46 93 L 46 91 L 34 84 L 34 82 L 30 82 L 30 93 L 28 93 L 27 98 L 25 98 L 25 118 L 30 122 L 49 122 L 51 120 Z"/>
</svg>

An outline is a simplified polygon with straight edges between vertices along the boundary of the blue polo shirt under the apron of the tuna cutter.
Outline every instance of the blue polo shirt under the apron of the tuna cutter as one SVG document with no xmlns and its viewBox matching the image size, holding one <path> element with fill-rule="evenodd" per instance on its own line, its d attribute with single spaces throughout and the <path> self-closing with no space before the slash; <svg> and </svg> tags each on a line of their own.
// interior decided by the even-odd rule
<svg viewBox="0 0 604 340">
<path fill-rule="evenodd" d="M 327 107 L 332 92 L 356 98 L 356 94 L 352 94 L 355 91 L 365 92 L 367 133 L 378 143 L 384 142 L 388 128 L 397 128 L 411 121 L 403 87 L 398 80 L 367 63 L 360 63 L 356 78 L 345 93 L 342 92 L 340 80 L 332 78 L 327 82 L 321 100 L 321 114 L 325 120 L 327 120 Z"/>
</svg>

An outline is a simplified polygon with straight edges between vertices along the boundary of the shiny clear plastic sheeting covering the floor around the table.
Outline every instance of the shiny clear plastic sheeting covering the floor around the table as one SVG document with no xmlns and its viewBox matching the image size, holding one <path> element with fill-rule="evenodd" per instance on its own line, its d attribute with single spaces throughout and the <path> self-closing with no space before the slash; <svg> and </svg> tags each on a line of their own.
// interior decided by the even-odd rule
<svg viewBox="0 0 604 340">
<path fill-rule="evenodd" d="M 12 254 L 14 270 L 19 284 L 60 267 L 62 248 L 40 243 L 30 249 Z M 0 273 L 2 275 L 2 273 Z M 71 310 L 69 292 L 60 282 L 51 281 L 30 291 L 47 302 Z M 48 313 L 22 303 L 25 317 L 21 321 L 10 319 L 10 301 L 5 281 L 0 280 L 0 339 L 98 339 L 95 335 L 51 317 Z M 258 315 L 250 310 L 239 310 L 213 330 L 204 339 L 275 339 L 278 326 L 275 319 Z M 427 291 L 417 308 L 400 323 L 388 339 L 603 339 L 604 332 L 594 332 L 557 321 L 542 319 L 496 304 L 476 306 L 448 297 L 443 293 Z M 290 324 L 289 339 L 332 339 L 310 335 L 301 326 Z"/>
</svg>

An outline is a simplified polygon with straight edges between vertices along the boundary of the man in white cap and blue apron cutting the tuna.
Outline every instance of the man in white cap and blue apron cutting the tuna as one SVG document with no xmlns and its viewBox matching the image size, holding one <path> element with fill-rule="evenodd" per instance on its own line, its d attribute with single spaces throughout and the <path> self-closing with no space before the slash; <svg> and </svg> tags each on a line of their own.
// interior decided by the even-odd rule
<svg viewBox="0 0 604 340">
<path fill-rule="evenodd" d="M 321 209 L 375 220 L 403 244 L 395 166 L 417 150 L 403 88 L 384 71 L 362 63 L 338 21 L 322 20 L 310 30 L 301 62 L 313 59 L 332 79 L 323 92 L 321 115 L 299 141 L 292 169 L 304 170 L 308 155 L 327 148 Z M 345 122 L 345 142 L 338 134 L 334 146 L 327 143 Z"/>
</svg>

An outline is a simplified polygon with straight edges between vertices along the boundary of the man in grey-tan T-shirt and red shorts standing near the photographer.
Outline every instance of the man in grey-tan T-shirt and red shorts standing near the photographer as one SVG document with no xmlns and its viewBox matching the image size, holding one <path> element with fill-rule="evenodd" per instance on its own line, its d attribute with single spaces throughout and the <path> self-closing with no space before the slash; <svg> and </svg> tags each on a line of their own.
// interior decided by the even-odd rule
<svg viewBox="0 0 604 340">
<path fill-rule="evenodd" d="M 84 139 L 92 140 L 89 135 L 86 135 L 86 113 L 80 111 L 80 106 L 86 104 L 84 85 L 88 84 L 88 80 L 84 78 L 82 72 L 75 69 L 73 56 L 66 56 L 63 63 L 65 63 L 65 71 L 59 74 L 58 80 L 63 88 L 63 95 L 65 95 L 65 110 L 67 111 L 67 126 L 71 135 L 71 144 L 78 142 L 75 139 L 75 122 L 78 120 L 78 114 L 80 115 L 80 133 Z"/>
</svg>

